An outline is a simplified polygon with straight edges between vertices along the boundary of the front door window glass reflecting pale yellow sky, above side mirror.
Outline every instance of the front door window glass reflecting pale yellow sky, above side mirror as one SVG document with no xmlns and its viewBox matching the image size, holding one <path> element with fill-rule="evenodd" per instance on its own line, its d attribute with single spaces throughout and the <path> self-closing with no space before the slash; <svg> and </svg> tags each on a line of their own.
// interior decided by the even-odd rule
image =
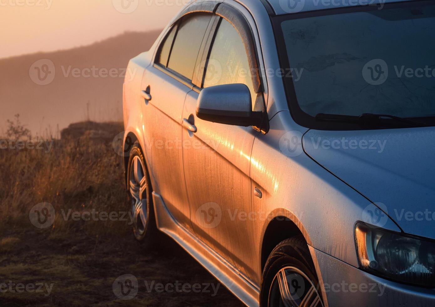
<svg viewBox="0 0 435 307">
<path fill-rule="evenodd" d="M 262 110 L 260 96 L 254 91 L 251 70 L 244 44 L 237 30 L 222 19 L 211 47 L 204 76 L 204 86 L 243 83 L 251 91 L 253 110 Z"/>
</svg>

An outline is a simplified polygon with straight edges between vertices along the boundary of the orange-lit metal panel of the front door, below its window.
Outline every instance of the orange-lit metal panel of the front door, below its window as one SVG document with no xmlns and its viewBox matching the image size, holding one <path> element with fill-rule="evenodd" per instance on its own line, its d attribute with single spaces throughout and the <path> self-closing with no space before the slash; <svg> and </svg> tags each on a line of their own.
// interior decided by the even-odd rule
<svg viewBox="0 0 435 307">
<path fill-rule="evenodd" d="M 198 94 L 187 94 L 183 117 L 197 128 L 183 131 L 184 175 L 194 233 L 248 278 L 254 257 L 248 222 L 238 219 L 249 212 L 251 180 L 249 160 L 254 137 L 251 127 L 211 123 L 195 115 Z"/>
</svg>

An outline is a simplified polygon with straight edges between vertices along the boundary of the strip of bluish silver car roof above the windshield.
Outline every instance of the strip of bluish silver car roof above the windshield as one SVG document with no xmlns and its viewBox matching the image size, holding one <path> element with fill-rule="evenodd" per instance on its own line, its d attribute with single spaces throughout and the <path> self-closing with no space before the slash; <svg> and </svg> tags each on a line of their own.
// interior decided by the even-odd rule
<svg viewBox="0 0 435 307">
<path fill-rule="evenodd" d="M 409 0 L 261 0 L 266 7 L 272 8 L 275 15 L 367 5 L 382 8 L 385 3 L 405 1 Z"/>
</svg>

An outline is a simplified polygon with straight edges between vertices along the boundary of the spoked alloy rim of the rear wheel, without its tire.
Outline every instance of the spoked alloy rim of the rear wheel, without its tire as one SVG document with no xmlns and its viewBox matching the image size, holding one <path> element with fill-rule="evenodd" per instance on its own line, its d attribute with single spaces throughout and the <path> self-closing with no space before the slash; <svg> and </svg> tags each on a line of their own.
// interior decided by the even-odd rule
<svg viewBox="0 0 435 307">
<path fill-rule="evenodd" d="M 139 157 L 131 162 L 130 194 L 133 225 L 137 234 L 143 235 L 147 225 L 147 179 L 144 164 Z"/>
</svg>

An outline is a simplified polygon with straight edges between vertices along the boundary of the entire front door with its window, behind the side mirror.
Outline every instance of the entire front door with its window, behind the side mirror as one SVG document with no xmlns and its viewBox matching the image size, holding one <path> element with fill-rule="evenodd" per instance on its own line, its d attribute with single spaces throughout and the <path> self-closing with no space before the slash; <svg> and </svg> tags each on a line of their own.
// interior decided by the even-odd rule
<svg viewBox="0 0 435 307">
<path fill-rule="evenodd" d="M 218 17 L 202 65 L 200 88 L 244 83 L 251 90 L 253 110 L 264 108 L 254 90 L 248 55 L 241 34 L 228 20 Z M 201 76 L 201 73 L 198 74 Z M 211 123 L 196 116 L 200 89 L 187 93 L 183 119 L 194 129 L 183 130 L 183 161 L 191 220 L 195 234 L 231 265 L 255 278 L 249 240 L 252 221 L 250 159 L 253 127 Z"/>
</svg>

